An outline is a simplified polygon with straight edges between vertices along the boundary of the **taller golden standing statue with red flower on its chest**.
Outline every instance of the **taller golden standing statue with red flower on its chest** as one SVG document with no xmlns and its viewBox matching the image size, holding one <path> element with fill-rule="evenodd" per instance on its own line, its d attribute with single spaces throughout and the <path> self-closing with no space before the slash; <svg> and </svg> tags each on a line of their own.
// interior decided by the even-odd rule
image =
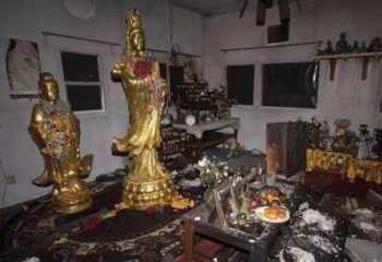
<svg viewBox="0 0 382 262">
<path fill-rule="evenodd" d="M 111 72 L 122 80 L 129 100 L 130 128 L 122 139 L 112 140 L 112 151 L 129 153 L 132 169 L 124 177 L 123 202 L 129 209 L 144 210 L 168 204 L 177 195 L 170 174 L 159 162 L 160 120 L 166 82 L 159 63 L 144 53 L 144 34 L 138 10 L 127 12 L 126 49 Z"/>
</svg>

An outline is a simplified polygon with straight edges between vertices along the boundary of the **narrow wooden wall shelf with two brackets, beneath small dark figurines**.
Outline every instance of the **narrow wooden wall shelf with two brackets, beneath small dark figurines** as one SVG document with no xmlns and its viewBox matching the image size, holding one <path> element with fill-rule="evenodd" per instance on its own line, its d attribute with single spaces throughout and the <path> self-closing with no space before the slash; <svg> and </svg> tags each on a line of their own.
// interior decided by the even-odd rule
<svg viewBox="0 0 382 262">
<path fill-rule="evenodd" d="M 361 80 L 366 80 L 368 78 L 368 66 L 370 58 L 375 58 L 380 59 L 382 57 L 382 52 L 353 52 L 353 53 L 333 53 L 333 55 L 321 55 L 321 56 L 315 56 L 314 61 L 320 61 L 320 60 L 330 60 L 331 62 L 331 73 L 330 73 L 330 80 L 334 81 L 335 80 L 335 69 L 337 64 L 337 59 L 351 59 L 351 58 L 362 58 L 363 59 L 363 64 L 362 64 L 362 75 Z"/>
</svg>

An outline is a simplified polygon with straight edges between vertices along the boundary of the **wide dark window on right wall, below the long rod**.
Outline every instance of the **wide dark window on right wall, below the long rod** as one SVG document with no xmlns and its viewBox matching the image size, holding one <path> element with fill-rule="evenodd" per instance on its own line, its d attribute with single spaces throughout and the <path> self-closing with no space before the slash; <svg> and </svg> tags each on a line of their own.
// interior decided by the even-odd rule
<svg viewBox="0 0 382 262">
<path fill-rule="evenodd" d="M 263 66 L 263 106 L 317 108 L 319 63 Z"/>
</svg>

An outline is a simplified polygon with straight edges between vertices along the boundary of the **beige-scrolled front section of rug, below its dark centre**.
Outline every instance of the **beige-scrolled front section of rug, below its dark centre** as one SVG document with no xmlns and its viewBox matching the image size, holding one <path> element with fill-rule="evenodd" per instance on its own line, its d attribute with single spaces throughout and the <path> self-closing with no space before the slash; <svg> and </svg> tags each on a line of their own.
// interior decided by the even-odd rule
<svg viewBox="0 0 382 262">
<path fill-rule="evenodd" d="M 176 219 L 147 235 L 115 242 L 80 242 L 62 237 L 35 257 L 40 261 L 174 261 L 183 252 L 182 226 Z"/>
</svg>

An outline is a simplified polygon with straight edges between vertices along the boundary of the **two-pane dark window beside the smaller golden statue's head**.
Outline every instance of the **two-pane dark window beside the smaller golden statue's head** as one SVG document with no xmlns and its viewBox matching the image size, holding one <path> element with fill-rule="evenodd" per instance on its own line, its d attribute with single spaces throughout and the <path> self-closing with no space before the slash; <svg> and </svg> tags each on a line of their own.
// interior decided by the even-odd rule
<svg viewBox="0 0 382 262">
<path fill-rule="evenodd" d="M 61 52 L 68 102 L 73 111 L 103 111 L 98 58 L 94 55 Z"/>
</svg>

